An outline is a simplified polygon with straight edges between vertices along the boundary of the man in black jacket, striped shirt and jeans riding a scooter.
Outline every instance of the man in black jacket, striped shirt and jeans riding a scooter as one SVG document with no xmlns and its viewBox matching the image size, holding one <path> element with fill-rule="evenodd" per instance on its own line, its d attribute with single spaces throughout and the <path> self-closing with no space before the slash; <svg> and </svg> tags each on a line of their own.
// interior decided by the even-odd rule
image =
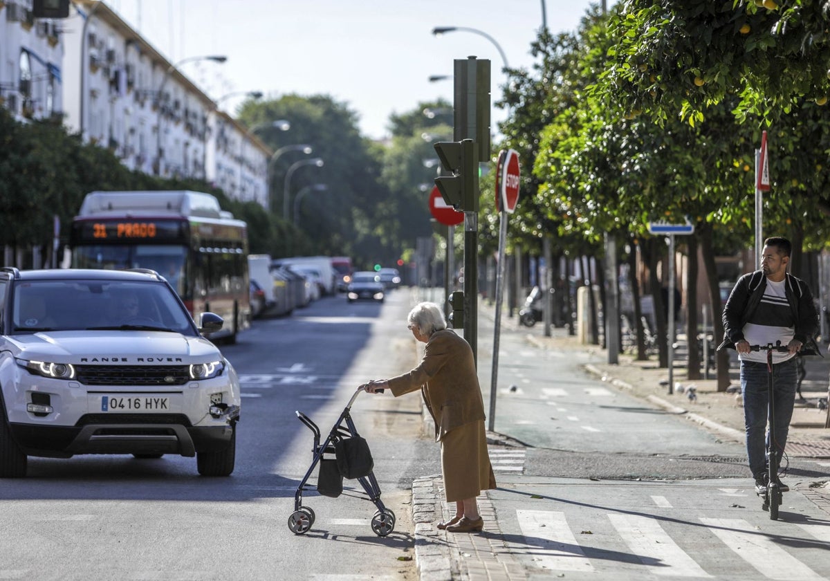
<svg viewBox="0 0 830 581">
<path fill-rule="evenodd" d="M 766 440 L 772 438 L 778 466 L 784 456 L 798 384 L 795 355 L 804 344 L 813 344 L 812 337 L 818 327 L 818 313 L 809 287 L 787 272 L 792 248 L 783 237 L 764 241 L 761 270 L 741 276 L 726 301 L 724 342 L 718 347 L 719 350 L 736 349 L 740 358 L 746 453 L 759 495 L 765 494 L 769 484 Z M 775 432 L 767 434 L 767 356 L 764 349 L 752 351 L 749 346 L 777 341 L 788 349 L 773 354 Z M 778 485 L 782 492 L 789 491 L 789 486 L 780 481 Z"/>
</svg>

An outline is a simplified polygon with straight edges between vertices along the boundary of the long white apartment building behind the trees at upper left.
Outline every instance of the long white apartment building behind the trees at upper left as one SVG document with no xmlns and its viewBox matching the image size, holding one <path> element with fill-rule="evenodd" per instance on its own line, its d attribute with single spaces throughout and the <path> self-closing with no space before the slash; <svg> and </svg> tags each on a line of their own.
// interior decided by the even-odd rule
<svg viewBox="0 0 830 581">
<path fill-rule="evenodd" d="M 267 207 L 271 150 L 105 2 L 72 0 L 69 16 L 32 16 L 0 0 L 0 102 L 20 120 L 62 118 L 128 168 L 206 179 Z M 221 66 L 217 64 L 216 66 Z"/>
</svg>

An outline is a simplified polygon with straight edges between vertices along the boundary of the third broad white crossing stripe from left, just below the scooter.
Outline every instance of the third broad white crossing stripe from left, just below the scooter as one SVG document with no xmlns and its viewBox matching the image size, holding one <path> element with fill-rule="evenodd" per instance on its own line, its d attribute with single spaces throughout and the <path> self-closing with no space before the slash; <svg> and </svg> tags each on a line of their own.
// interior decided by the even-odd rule
<svg viewBox="0 0 830 581">
<path fill-rule="evenodd" d="M 824 579 L 743 519 L 704 519 L 701 522 L 741 559 L 769 579 Z"/>
</svg>

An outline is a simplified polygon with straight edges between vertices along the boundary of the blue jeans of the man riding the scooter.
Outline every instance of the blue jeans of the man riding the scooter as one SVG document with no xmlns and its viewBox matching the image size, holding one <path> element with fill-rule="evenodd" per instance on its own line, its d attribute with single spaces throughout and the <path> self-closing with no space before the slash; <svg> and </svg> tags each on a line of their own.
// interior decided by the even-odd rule
<svg viewBox="0 0 830 581">
<path fill-rule="evenodd" d="M 795 358 L 773 365 L 773 408 L 775 413 L 775 433 L 773 449 L 778 457 L 778 466 L 787 445 L 789 422 L 793 418 L 795 388 L 798 383 Z M 755 478 L 762 477 L 767 468 L 767 444 L 769 431 L 767 419 L 769 414 L 769 393 L 767 382 L 769 372 L 767 364 L 741 361 L 740 391 L 744 396 L 744 423 L 746 426 L 746 456 L 749 458 L 749 470 Z"/>
</svg>

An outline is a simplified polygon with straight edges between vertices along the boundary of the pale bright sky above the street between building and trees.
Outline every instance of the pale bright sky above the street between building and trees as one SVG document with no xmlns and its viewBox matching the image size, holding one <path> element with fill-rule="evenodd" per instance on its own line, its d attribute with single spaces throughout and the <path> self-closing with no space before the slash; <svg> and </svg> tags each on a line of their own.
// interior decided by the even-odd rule
<svg viewBox="0 0 830 581">
<path fill-rule="evenodd" d="M 573 32 L 588 0 L 105 0 L 131 27 L 234 115 L 237 92 L 330 95 L 354 111 L 361 134 L 389 135 L 393 114 L 443 98 L 452 103 L 455 59 L 490 59 L 492 96 L 505 64 L 530 69 L 544 24 Z M 544 10 L 543 10 L 544 7 Z M 463 27 L 440 37 L 434 27 Z M 487 36 L 482 36 L 481 33 Z M 499 48 L 501 51 L 499 51 Z M 504 57 L 501 56 L 504 53 Z M 506 61 L 506 63 L 505 63 Z M 430 76 L 446 75 L 443 81 Z M 505 114 L 494 108 L 492 125 Z"/>
</svg>

